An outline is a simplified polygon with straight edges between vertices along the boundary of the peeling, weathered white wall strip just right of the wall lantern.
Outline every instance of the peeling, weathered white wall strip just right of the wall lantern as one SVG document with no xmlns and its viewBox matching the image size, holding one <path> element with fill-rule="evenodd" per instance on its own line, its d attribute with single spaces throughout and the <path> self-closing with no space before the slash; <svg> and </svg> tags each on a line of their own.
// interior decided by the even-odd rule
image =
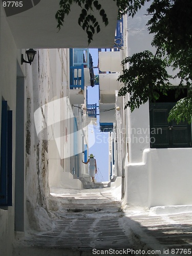
<svg viewBox="0 0 192 256">
<path fill-rule="evenodd" d="M 26 64 L 26 229 L 48 229 L 48 134 L 36 132 L 34 112 L 49 102 L 49 51 L 37 50 L 32 65 Z M 41 218 L 39 218 L 42 216 Z"/>
</svg>

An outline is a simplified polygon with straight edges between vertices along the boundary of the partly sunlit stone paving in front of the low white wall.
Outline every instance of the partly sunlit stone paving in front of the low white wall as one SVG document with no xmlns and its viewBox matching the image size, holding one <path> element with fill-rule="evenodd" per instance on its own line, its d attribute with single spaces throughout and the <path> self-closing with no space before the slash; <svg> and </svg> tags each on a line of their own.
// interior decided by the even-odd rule
<svg viewBox="0 0 192 256">
<path fill-rule="evenodd" d="M 137 249 L 147 248 L 151 255 L 192 255 L 192 212 L 156 216 L 127 212 L 125 216 Z"/>
</svg>

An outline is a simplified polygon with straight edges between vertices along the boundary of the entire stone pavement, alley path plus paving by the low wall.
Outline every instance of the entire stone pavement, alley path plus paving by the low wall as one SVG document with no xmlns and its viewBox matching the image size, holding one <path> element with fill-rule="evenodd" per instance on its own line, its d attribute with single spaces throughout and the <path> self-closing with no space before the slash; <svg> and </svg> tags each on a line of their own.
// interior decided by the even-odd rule
<svg viewBox="0 0 192 256">
<path fill-rule="evenodd" d="M 17 238 L 13 255 L 192 255 L 192 212 L 122 210 L 116 190 L 55 190 L 53 228 Z M 123 250 L 124 249 L 124 250 Z"/>
</svg>

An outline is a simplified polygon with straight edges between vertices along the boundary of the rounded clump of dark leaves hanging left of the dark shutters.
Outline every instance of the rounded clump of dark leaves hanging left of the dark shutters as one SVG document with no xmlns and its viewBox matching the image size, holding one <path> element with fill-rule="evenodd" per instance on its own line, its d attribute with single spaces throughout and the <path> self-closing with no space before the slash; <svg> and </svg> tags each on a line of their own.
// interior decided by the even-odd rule
<svg viewBox="0 0 192 256">
<path fill-rule="evenodd" d="M 133 111 L 148 98 L 152 101 L 158 99 L 159 92 L 167 94 L 170 86 L 169 79 L 172 76 L 167 74 L 166 59 L 154 56 L 150 51 L 144 51 L 126 57 L 122 65 L 126 63 L 129 63 L 129 69 L 123 70 L 123 74 L 118 78 L 124 83 L 124 87 L 119 90 L 119 95 L 124 96 L 130 93 L 130 99 L 125 108 L 129 106 Z"/>
</svg>

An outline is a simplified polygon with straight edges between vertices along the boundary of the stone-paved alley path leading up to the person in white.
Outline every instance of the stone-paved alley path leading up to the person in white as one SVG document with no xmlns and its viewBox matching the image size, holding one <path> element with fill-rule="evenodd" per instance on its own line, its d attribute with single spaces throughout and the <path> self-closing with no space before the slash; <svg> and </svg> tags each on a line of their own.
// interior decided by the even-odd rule
<svg viewBox="0 0 192 256">
<path fill-rule="evenodd" d="M 53 229 L 17 238 L 13 255 L 82 256 L 131 248 L 117 194 L 110 187 L 55 189 L 51 201 L 55 205 L 56 200 L 58 207 L 52 209 Z"/>
</svg>

